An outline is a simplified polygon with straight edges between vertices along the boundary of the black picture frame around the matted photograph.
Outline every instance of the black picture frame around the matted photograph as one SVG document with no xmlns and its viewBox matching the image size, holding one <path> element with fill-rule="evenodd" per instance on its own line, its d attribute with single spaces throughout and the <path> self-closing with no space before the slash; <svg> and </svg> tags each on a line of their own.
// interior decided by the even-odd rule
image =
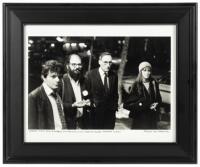
<svg viewBox="0 0 200 167">
<path fill-rule="evenodd" d="M 26 24 L 175 24 L 176 143 L 25 143 Z M 4 163 L 196 163 L 197 4 L 3 4 Z"/>
</svg>

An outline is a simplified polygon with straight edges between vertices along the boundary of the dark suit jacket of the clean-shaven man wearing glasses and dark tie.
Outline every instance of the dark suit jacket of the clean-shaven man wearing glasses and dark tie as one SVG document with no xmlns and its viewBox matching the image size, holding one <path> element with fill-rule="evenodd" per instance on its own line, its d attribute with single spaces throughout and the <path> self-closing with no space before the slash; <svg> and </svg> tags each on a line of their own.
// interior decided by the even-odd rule
<svg viewBox="0 0 200 167">
<path fill-rule="evenodd" d="M 114 113 L 118 108 L 118 77 L 110 71 L 109 77 L 109 93 L 106 94 L 104 85 L 101 80 L 99 68 L 91 70 L 87 74 L 86 87 L 90 94 L 90 99 L 95 106 L 96 112 Z"/>
</svg>

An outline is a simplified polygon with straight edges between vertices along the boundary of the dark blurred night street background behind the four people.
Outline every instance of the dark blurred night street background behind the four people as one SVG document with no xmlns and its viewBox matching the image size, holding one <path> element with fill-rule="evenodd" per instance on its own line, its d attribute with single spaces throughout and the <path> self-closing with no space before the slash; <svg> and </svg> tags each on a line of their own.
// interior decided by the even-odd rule
<svg viewBox="0 0 200 167">
<path fill-rule="evenodd" d="M 119 103 L 123 102 L 130 92 L 131 85 L 138 74 L 138 65 L 148 61 L 153 67 L 153 76 L 159 82 L 163 100 L 161 117 L 158 122 L 160 129 L 170 128 L 170 37 L 29 37 L 28 91 L 39 85 L 41 65 L 46 60 L 55 59 L 65 64 L 66 58 L 72 53 L 82 57 L 84 73 L 98 67 L 98 56 L 108 51 L 113 56 L 112 69 L 119 77 Z M 130 128 L 129 119 L 116 122 L 116 129 Z"/>
</svg>

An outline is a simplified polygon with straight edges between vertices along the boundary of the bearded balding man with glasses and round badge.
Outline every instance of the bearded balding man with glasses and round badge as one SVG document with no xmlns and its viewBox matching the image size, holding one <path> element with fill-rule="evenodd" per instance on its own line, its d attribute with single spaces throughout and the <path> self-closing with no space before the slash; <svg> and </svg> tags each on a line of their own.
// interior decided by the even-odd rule
<svg viewBox="0 0 200 167">
<path fill-rule="evenodd" d="M 82 61 L 78 54 L 71 54 L 66 63 L 67 73 L 62 80 L 62 100 L 68 129 L 87 129 L 89 106 Z"/>
</svg>

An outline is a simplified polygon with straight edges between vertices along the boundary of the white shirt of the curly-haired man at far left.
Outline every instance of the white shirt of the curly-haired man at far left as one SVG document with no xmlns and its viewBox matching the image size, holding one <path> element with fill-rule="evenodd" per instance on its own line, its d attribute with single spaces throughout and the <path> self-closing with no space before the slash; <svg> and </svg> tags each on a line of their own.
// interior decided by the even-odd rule
<svg viewBox="0 0 200 167">
<path fill-rule="evenodd" d="M 60 116 L 59 116 L 59 111 L 58 111 L 58 107 L 57 107 L 57 104 L 56 104 L 56 100 L 52 96 L 53 90 L 45 82 L 43 82 L 42 86 L 44 87 L 44 91 L 47 94 L 47 97 L 49 98 L 49 101 L 50 101 L 51 106 L 52 106 L 55 130 L 62 130 L 62 123 L 61 123 L 61 119 L 60 119 Z M 61 104 L 62 109 L 63 109 L 62 101 L 61 101 L 61 98 L 58 94 L 57 94 L 57 97 L 59 98 L 60 104 Z"/>
</svg>

